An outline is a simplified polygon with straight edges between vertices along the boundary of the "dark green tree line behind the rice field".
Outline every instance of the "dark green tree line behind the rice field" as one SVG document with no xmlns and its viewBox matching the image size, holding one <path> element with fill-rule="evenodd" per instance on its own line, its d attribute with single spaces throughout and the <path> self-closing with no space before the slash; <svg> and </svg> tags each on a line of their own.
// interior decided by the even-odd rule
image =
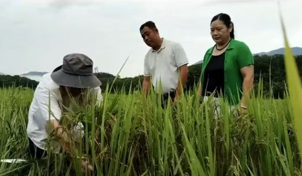
<svg viewBox="0 0 302 176">
<path fill-rule="evenodd" d="M 255 55 L 255 91 L 257 93 L 259 85 L 262 84 L 263 94 L 269 96 L 270 92 L 274 98 L 283 98 L 284 91 L 286 91 L 285 83 L 285 67 L 284 67 L 284 56 L 282 54 L 276 55 Z M 298 68 L 302 68 L 302 55 L 296 56 L 296 63 Z M 195 85 L 199 82 L 201 74 L 202 64 L 189 66 L 188 81 L 186 84 L 185 91 L 192 90 Z M 98 72 L 95 70 L 96 77 L 102 82 L 101 89 L 104 91 L 109 84 L 113 84 L 112 92 L 118 92 L 125 90 L 126 92 L 137 90 L 142 82 L 143 75 L 136 77 L 120 78 L 117 77 L 115 82 L 115 76 L 110 73 Z M 302 77 L 302 69 L 299 69 L 299 74 Z M 261 79 L 260 79 L 261 78 Z M 260 84 L 260 80 L 262 80 Z M 38 82 L 19 76 L 0 75 L 0 82 L 2 88 L 9 87 L 28 87 L 36 88 Z"/>
</svg>

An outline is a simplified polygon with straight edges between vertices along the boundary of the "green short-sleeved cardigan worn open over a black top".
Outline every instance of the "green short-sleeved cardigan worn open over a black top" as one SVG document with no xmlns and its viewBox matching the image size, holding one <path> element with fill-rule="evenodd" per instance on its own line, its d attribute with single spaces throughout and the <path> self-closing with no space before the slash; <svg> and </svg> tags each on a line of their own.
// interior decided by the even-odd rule
<svg viewBox="0 0 302 176">
<path fill-rule="evenodd" d="M 201 69 L 201 85 L 205 88 L 204 71 L 212 57 L 214 47 L 208 49 Z M 225 98 L 230 105 L 238 105 L 243 93 L 243 77 L 240 69 L 254 65 L 254 57 L 248 46 L 241 41 L 231 39 L 225 52 Z"/>
</svg>

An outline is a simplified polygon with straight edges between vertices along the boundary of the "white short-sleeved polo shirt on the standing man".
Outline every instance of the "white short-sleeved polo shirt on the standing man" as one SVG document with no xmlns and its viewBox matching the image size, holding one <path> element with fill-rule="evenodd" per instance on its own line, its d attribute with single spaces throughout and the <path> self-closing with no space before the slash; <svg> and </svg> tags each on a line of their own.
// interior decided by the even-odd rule
<svg viewBox="0 0 302 176">
<path fill-rule="evenodd" d="M 188 64 L 188 58 L 181 44 L 163 39 L 158 51 L 152 48 L 144 60 L 144 75 L 151 76 L 154 90 L 158 92 L 159 82 L 163 94 L 176 90 L 179 80 L 178 68 Z"/>
</svg>

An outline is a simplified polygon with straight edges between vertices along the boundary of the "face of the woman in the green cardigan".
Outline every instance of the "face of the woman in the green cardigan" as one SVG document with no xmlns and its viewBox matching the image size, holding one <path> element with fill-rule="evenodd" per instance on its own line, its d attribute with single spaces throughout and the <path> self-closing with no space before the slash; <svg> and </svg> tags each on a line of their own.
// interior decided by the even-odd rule
<svg viewBox="0 0 302 176">
<path fill-rule="evenodd" d="M 232 31 L 232 26 L 227 28 L 223 21 L 216 19 L 211 23 L 211 36 L 215 43 L 224 44 L 229 40 L 229 33 Z"/>
</svg>

